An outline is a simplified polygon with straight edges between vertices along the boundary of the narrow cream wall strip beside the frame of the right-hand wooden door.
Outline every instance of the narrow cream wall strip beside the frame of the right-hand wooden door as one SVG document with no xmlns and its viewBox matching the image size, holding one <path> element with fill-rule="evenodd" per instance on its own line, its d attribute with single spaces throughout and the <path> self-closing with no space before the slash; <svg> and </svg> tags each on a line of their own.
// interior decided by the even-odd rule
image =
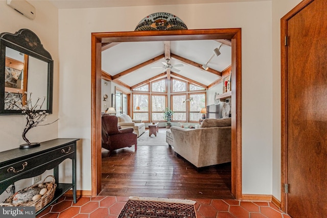
<svg viewBox="0 0 327 218">
<path fill-rule="evenodd" d="M 281 18 L 301 0 L 272 1 L 272 194 L 281 200 Z"/>
</svg>

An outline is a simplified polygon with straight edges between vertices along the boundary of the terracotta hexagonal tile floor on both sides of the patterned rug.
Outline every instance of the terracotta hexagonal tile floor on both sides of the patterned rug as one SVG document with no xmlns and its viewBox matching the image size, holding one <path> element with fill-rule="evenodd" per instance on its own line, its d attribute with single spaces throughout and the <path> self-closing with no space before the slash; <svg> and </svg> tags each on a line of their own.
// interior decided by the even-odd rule
<svg viewBox="0 0 327 218">
<path fill-rule="evenodd" d="M 275 205 L 268 202 L 240 202 L 237 200 L 192 199 L 196 201 L 198 218 L 238 217 L 238 218 L 290 218 Z M 118 217 L 128 197 L 98 196 L 79 198 L 74 204 L 72 197 L 62 197 L 36 217 Z"/>
</svg>

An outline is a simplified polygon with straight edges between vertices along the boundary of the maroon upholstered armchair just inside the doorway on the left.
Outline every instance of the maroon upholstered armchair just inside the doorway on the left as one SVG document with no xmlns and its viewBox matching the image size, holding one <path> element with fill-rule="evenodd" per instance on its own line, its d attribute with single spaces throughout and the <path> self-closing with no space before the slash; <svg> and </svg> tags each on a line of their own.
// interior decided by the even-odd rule
<svg viewBox="0 0 327 218">
<path fill-rule="evenodd" d="M 118 118 L 112 115 L 102 115 L 102 147 L 112 151 L 135 145 L 137 149 L 137 135 L 134 129 L 119 129 Z"/>
</svg>

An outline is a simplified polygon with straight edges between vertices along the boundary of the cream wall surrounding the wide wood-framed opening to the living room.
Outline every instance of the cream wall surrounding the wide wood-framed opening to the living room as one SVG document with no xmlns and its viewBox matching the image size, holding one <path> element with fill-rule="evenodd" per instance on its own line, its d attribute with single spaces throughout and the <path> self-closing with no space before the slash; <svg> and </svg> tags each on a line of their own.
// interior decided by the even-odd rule
<svg viewBox="0 0 327 218">
<path fill-rule="evenodd" d="M 161 11 L 189 29 L 242 28 L 243 193 L 271 194 L 270 1 L 59 10 L 59 137 L 82 139 L 77 189 L 91 190 L 91 33 L 133 31 L 146 15 Z"/>
</svg>

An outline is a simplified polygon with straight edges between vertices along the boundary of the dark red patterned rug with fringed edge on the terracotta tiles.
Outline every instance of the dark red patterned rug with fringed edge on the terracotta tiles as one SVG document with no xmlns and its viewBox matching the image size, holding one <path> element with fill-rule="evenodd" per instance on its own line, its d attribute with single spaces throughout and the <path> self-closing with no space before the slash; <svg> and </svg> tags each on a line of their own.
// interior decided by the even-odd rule
<svg viewBox="0 0 327 218">
<path fill-rule="evenodd" d="M 130 197 L 119 218 L 195 218 L 195 201 Z"/>
</svg>

